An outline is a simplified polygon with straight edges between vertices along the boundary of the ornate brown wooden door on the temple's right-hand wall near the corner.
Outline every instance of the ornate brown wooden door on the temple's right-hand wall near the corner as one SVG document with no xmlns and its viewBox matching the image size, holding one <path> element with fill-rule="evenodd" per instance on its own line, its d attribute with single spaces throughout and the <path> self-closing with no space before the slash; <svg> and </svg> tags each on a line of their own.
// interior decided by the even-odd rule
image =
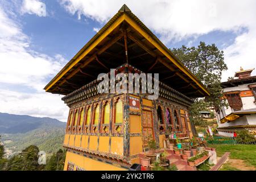
<svg viewBox="0 0 256 182">
<path fill-rule="evenodd" d="M 142 134 L 144 146 L 147 146 L 148 140 L 154 137 L 154 126 L 152 119 L 152 111 L 143 110 L 142 111 Z"/>
</svg>

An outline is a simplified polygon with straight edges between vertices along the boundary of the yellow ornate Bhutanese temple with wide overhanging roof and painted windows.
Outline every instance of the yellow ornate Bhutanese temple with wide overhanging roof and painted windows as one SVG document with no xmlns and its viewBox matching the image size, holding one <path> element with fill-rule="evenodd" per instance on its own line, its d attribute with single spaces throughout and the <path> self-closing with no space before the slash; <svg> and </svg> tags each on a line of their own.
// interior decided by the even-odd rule
<svg viewBox="0 0 256 182">
<path fill-rule="evenodd" d="M 97 92 L 100 73 L 159 73 L 159 97 Z M 192 98 L 208 96 L 201 82 L 123 5 L 47 84 L 70 108 L 64 170 L 127 170 L 140 163 L 152 136 L 164 147 L 168 128 L 193 136 Z"/>
</svg>

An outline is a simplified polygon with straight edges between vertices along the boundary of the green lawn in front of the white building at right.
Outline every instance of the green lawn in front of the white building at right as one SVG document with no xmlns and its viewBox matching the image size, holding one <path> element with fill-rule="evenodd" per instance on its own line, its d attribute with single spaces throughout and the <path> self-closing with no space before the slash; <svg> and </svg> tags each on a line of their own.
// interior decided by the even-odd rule
<svg viewBox="0 0 256 182">
<path fill-rule="evenodd" d="M 224 155 L 225 152 L 230 152 L 230 159 L 241 159 L 247 165 L 256 167 L 256 145 L 212 144 L 209 147 L 216 148 L 219 157 Z M 229 168 L 228 164 L 224 167 Z"/>
</svg>

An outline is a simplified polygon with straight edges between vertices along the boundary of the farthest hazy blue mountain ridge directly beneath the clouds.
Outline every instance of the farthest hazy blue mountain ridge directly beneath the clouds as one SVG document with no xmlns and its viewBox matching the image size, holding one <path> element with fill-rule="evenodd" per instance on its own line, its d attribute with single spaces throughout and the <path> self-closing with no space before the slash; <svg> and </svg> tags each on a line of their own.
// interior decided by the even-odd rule
<svg viewBox="0 0 256 182">
<path fill-rule="evenodd" d="M 35 129 L 65 128 L 66 123 L 53 118 L 0 113 L 0 133 L 27 133 Z"/>
</svg>

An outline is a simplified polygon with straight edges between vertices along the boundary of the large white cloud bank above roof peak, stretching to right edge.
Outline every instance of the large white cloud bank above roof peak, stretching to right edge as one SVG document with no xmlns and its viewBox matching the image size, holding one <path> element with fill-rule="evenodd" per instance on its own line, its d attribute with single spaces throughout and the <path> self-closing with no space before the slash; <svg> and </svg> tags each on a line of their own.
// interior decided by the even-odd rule
<svg viewBox="0 0 256 182">
<path fill-rule="evenodd" d="M 236 42 L 225 48 L 225 60 L 229 71 L 224 80 L 233 76 L 240 65 L 256 67 L 253 50 L 256 46 L 256 1 L 232 0 L 60 0 L 71 14 L 106 23 L 119 8 L 126 5 L 151 30 L 160 35 L 164 43 L 180 41 L 211 31 L 234 31 L 246 27 L 248 32 L 238 36 Z M 232 56 L 236 53 L 236 56 Z"/>
</svg>

